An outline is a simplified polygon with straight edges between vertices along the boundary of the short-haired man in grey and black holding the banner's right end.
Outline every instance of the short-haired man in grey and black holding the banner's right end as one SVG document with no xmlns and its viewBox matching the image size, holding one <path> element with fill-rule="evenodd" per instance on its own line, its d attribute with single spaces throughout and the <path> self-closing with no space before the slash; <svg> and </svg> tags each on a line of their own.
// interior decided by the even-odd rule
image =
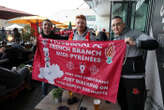
<svg viewBox="0 0 164 110">
<path fill-rule="evenodd" d="M 124 39 L 127 44 L 118 92 L 121 110 L 144 110 L 146 90 L 143 50 L 156 49 L 158 43 L 148 35 L 126 27 L 120 16 L 112 19 L 112 30 L 114 40 Z"/>
</svg>

